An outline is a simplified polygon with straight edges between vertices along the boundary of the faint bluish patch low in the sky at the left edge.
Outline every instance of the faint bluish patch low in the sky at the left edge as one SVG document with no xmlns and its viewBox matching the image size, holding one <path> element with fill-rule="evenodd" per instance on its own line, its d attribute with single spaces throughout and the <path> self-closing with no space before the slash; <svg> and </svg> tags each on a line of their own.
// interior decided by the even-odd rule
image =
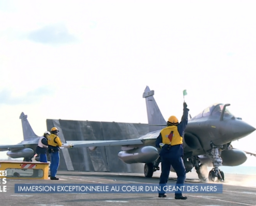
<svg viewBox="0 0 256 206">
<path fill-rule="evenodd" d="M 28 105 L 40 102 L 43 97 L 51 96 L 52 90 L 48 87 L 40 87 L 21 96 L 12 95 L 12 90 L 4 89 L 0 92 L 0 105 Z"/>
</svg>

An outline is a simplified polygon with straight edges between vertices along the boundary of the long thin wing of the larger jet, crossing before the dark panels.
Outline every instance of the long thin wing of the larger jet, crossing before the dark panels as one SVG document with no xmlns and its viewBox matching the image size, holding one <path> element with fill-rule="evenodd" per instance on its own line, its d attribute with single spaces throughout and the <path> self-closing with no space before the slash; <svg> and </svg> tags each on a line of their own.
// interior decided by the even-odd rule
<svg viewBox="0 0 256 206">
<path fill-rule="evenodd" d="M 130 140 L 93 140 L 93 141 L 66 141 L 67 144 L 72 144 L 73 147 L 100 147 L 100 146 L 127 146 L 127 145 L 142 145 L 143 139 Z"/>
</svg>

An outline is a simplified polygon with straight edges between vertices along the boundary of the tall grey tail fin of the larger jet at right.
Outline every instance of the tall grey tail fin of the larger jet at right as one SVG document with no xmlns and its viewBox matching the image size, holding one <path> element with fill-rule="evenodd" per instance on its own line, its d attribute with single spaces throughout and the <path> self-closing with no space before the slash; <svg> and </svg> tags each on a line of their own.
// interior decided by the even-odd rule
<svg viewBox="0 0 256 206">
<path fill-rule="evenodd" d="M 153 97 L 155 94 L 154 90 L 150 91 L 147 86 L 144 93 L 143 98 L 146 99 L 146 107 L 147 107 L 147 120 L 149 124 L 149 132 L 156 131 L 162 129 L 164 126 L 153 126 L 153 125 L 166 125 L 167 122 L 164 120 L 160 109 L 157 106 L 156 100 Z M 151 126 L 150 126 L 151 125 Z"/>
</svg>

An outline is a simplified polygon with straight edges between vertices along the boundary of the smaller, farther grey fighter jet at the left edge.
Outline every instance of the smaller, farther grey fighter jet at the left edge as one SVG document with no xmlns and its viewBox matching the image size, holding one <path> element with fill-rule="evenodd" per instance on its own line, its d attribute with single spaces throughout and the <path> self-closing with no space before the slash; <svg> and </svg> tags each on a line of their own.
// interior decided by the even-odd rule
<svg viewBox="0 0 256 206">
<path fill-rule="evenodd" d="M 24 158 L 24 162 L 32 162 L 32 159 L 36 155 L 36 147 L 40 136 L 35 134 L 27 121 L 27 115 L 23 112 L 20 115 L 20 119 L 23 130 L 23 141 L 17 145 L 0 145 L 0 151 L 7 151 L 6 155 L 10 158 Z M 62 148 L 65 148 L 66 146 L 67 144 L 64 144 Z M 39 161 L 39 156 L 35 157 L 35 160 Z"/>
</svg>

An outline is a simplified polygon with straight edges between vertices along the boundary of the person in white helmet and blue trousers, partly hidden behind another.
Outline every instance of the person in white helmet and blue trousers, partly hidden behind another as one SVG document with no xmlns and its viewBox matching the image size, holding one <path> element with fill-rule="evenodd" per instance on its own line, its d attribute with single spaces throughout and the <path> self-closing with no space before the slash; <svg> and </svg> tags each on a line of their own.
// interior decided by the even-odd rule
<svg viewBox="0 0 256 206">
<path fill-rule="evenodd" d="M 38 145 L 36 147 L 36 153 L 39 155 L 40 162 L 47 162 L 47 148 L 48 148 L 48 137 L 51 133 L 46 131 L 43 136 L 39 138 Z"/>
</svg>

